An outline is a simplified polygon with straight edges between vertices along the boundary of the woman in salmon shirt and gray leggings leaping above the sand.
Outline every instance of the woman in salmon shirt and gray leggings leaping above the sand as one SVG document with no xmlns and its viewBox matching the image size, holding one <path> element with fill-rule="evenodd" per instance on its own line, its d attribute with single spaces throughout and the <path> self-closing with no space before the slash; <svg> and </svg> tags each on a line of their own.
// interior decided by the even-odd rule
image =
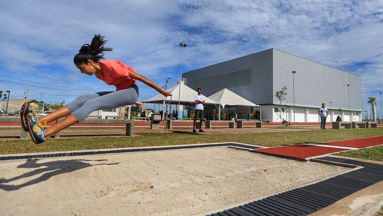
<svg viewBox="0 0 383 216">
<path fill-rule="evenodd" d="M 79 52 L 73 58 L 73 63 L 82 74 L 95 75 L 97 79 L 104 81 L 106 84 L 115 86 L 116 91 L 81 95 L 73 102 L 40 118 L 37 118 L 35 111 L 30 111 L 28 113 L 28 130 L 34 143 L 38 144 L 46 141 L 51 135 L 80 122 L 95 110 L 119 108 L 133 104 L 139 107 L 145 106 L 137 102 L 138 86 L 136 80 L 152 87 L 165 97 L 172 95 L 171 92 L 163 90 L 121 61 L 102 60 L 104 59 L 104 51 L 113 50 L 104 47 L 105 43 L 104 36 L 95 35 L 90 44 L 81 46 Z M 30 109 L 28 108 L 28 110 Z M 51 127 L 46 127 L 46 123 L 62 117 L 65 118 Z"/>
</svg>

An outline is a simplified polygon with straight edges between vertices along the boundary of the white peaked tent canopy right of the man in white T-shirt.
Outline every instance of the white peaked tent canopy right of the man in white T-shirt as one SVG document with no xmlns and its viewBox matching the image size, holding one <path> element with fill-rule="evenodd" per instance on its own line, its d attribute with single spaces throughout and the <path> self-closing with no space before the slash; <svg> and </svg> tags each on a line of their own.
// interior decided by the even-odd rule
<svg viewBox="0 0 383 216">
<path fill-rule="evenodd" d="M 209 99 L 215 101 L 217 104 L 220 104 L 222 108 L 226 105 L 230 106 L 242 106 L 242 107 L 260 107 L 246 99 L 240 97 L 239 95 L 231 92 L 228 89 L 222 89 L 221 91 L 208 97 Z"/>
</svg>

